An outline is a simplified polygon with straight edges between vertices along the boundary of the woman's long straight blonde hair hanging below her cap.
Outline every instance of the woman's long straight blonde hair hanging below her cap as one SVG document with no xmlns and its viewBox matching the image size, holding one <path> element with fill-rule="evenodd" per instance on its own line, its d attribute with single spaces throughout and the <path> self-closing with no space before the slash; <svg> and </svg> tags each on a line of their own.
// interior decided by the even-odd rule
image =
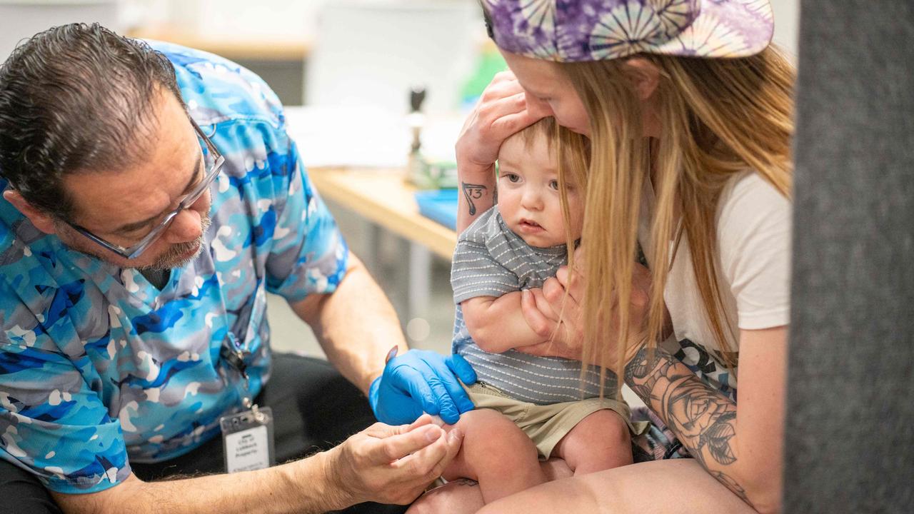
<svg viewBox="0 0 914 514">
<path fill-rule="evenodd" d="M 621 378 L 626 347 L 618 344 L 615 355 L 604 355 L 607 333 L 617 330 L 620 342 L 643 335 L 653 348 L 664 330 L 664 286 L 685 241 L 724 364 L 735 368 L 728 339 L 736 335 L 721 299 L 717 204 L 728 180 L 747 169 L 790 195 L 794 72 L 776 48 L 741 59 L 636 57 L 660 71 L 653 98 L 662 127 L 658 140 L 643 136 L 642 102 L 625 59 L 558 64 L 590 114 L 592 155 L 582 233 L 584 359 L 603 363 Z M 645 241 L 654 281 L 646 326 L 630 327 L 646 180 L 655 196 L 650 241 Z M 640 333 L 632 334 L 635 330 Z"/>
</svg>

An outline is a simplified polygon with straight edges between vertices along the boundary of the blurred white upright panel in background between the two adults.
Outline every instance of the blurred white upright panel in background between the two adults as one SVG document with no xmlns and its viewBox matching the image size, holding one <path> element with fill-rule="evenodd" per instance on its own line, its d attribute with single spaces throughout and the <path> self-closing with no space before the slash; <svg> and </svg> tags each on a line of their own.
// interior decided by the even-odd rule
<svg viewBox="0 0 914 514">
<path fill-rule="evenodd" d="M 409 110 L 409 88 L 428 89 L 425 112 L 452 112 L 485 37 L 469 0 L 335 0 L 318 17 L 305 70 L 305 103 Z"/>
</svg>

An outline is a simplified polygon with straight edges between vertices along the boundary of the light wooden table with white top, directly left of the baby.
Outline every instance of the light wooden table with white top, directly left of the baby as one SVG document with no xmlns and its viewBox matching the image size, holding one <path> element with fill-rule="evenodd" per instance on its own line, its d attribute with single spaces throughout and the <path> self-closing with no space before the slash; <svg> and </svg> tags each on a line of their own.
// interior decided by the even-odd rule
<svg viewBox="0 0 914 514">
<path fill-rule="evenodd" d="M 451 260 L 457 232 L 419 213 L 416 187 L 403 179 L 404 170 L 317 167 L 308 175 L 322 197 Z"/>
</svg>

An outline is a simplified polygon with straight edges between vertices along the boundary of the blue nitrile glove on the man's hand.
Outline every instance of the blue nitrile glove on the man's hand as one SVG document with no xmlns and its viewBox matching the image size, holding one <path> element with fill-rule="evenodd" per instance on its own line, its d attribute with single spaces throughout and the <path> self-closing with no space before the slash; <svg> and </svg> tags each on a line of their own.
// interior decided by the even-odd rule
<svg viewBox="0 0 914 514">
<path fill-rule="evenodd" d="M 382 423 L 412 423 L 422 412 L 438 414 L 444 423 L 457 423 L 473 402 L 457 381 L 476 381 L 473 366 L 459 355 L 411 349 L 388 360 L 384 373 L 371 383 L 368 403 Z"/>
</svg>

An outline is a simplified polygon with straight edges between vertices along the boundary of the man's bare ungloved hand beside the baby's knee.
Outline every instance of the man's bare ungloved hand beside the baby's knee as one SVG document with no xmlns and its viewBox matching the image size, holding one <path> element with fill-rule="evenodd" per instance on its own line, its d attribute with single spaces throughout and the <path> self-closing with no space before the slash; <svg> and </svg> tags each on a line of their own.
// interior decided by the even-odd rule
<svg viewBox="0 0 914 514">
<path fill-rule="evenodd" d="M 375 423 L 327 452 L 326 476 L 345 504 L 377 501 L 407 505 L 460 450 L 459 429 L 445 432 L 428 415 L 410 425 Z"/>
</svg>

